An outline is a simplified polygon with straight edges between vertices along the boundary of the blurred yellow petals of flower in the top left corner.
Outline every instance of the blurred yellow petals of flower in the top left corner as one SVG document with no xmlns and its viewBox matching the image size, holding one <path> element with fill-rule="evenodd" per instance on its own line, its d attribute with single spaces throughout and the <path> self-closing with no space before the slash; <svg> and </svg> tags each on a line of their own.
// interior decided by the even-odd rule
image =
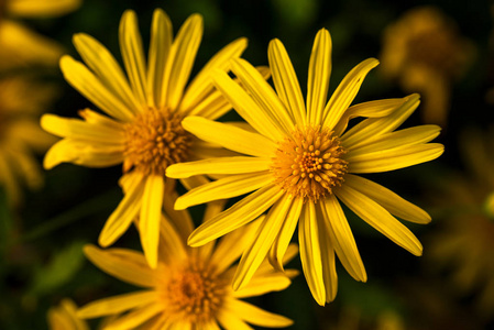
<svg viewBox="0 0 494 330">
<path fill-rule="evenodd" d="M 58 43 L 25 28 L 15 18 L 53 18 L 80 6 L 80 0 L 0 0 L 0 68 L 24 64 L 56 65 Z"/>
</svg>

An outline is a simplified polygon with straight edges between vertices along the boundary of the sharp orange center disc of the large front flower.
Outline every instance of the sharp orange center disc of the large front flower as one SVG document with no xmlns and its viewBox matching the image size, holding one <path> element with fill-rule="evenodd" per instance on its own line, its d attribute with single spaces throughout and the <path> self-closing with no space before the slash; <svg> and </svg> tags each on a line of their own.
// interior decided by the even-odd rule
<svg viewBox="0 0 494 330">
<path fill-rule="evenodd" d="M 340 186 L 348 162 L 338 136 L 319 127 L 296 129 L 293 139 L 278 143 L 272 170 L 275 183 L 295 197 L 317 201 L 332 188 Z"/>
</svg>

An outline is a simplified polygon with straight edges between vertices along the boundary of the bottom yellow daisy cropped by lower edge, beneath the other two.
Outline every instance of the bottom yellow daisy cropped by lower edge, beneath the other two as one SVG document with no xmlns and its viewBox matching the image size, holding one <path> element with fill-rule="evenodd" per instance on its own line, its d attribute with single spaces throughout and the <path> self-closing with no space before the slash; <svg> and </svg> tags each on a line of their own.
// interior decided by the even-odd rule
<svg viewBox="0 0 494 330">
<path fill-rule="evenodd" d="M 172 205 L 169 206 L 172 207 Z M 209 208 L 205 217 L 213 216 L 222 206 Z M 103 298 L 81 307 L 77 316 L 96 318 L 116 316 L 105 329 L 251 329 L 246 323 L 267 328 L 288 327 L 292 320 L 267 312 L 242 298 L 283 290 L 290 279 L 275 272 L 267 261 L 260 267 L 250 285 L 233 292 L 231 266 L 255 237 L 259 221 L 226 235 L 218 244 L 198 249 L 186 245 L 193 230 L 187 211 L 173 211 L 161 222 L 160 262 L 151 268 L 141 253 L 127 249 L 100 250 L 85 248 L 87 257 L 106 273 L 144 290 Z M 180 226 L 180 230 L 178 227 Z M 290 245 L 288 261 L 297 253 Z M 289 254 L 289 255 L 288 255 Z M 290 276 L 296 271 L 287 271 Z M 141 329 L 141 328 L 139 328 Z"/>
</svg>

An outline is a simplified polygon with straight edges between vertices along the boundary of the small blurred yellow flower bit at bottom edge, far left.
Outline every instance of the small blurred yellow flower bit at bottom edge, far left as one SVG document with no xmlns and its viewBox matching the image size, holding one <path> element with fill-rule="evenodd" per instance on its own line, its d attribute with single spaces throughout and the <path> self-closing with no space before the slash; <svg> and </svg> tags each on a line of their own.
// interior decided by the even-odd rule
<svg viewBox="0 0 494 330">
<path fill-rule="evenodd" d="M 76 317 L 77 306 L 70 299 L 64 299 L 59 306 L 48 310 L 50 330 L 89 330 L 88 324 Z"/>
</svg>

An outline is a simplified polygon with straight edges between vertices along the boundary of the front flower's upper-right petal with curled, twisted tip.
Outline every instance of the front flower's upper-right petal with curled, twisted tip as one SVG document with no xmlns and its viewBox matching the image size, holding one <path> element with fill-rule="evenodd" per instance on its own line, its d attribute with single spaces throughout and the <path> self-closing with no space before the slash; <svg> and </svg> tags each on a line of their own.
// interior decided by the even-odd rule
<svg viewBox="0 0 494 330">
<path fill-rule="evenodd" d="M 348 150 L 372 143 L 380 135 L 394 131 L 417 109 L 420 96 L 417 94 L 404 98 L 405 102 L 392 114 L 384 118 L 365 119 L 348 130 L 341 136 L 341 144 Z"/>
</svg>

